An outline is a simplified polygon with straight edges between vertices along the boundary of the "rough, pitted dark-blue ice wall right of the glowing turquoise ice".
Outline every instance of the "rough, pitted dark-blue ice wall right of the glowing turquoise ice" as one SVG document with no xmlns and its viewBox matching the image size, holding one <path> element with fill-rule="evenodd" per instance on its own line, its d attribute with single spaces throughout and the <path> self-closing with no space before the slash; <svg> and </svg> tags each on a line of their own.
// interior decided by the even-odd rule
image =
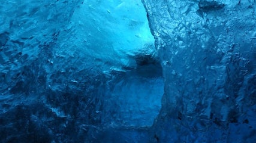
<svg viewBox="0 0 256 143">
<path fill-rule="evenodd" d="M 254 142 L 255 1 L 142 2 L 165 79 L 150 142 Z"/>
</svg>

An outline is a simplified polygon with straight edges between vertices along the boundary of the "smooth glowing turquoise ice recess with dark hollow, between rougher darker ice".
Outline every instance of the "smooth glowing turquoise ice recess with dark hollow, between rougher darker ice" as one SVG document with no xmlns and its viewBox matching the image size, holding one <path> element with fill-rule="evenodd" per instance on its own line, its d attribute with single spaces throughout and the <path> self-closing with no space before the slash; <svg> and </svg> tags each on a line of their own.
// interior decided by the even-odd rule
<svg viewBox="0 0 256 143">
<path fill-rule="evenodd" d="M 86 1 L 74 11 L 66 30 L 56 41 L 59 47 L 53 49 L 50 73 L 76 68 L 73 74 L 86 70 L 85 76 L 100 82 L 90 81 L 99 98 L 95 112 L 100 125 L 151 126 L 161 108 L 164 85 L 143 4 Z M 79 84 L 85 80 L 80 74 L 60 80 Z M 64 88 L 49 84 L 56 90 Z"/>
</svg>

